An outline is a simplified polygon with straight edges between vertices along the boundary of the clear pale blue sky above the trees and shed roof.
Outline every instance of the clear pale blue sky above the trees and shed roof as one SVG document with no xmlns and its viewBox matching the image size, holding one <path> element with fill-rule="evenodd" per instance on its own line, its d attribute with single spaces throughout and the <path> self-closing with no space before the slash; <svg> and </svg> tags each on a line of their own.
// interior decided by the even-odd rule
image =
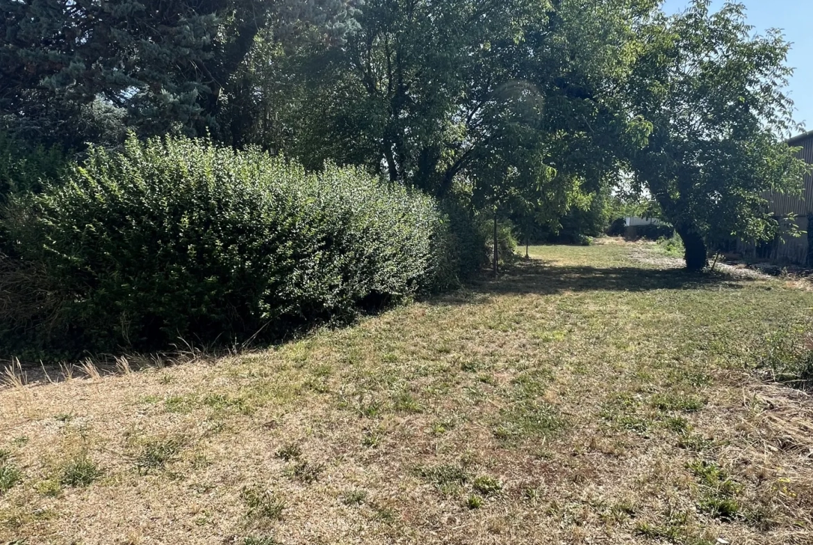
<svg viewBox="0 0 813 545">
<path fill-rule="evenodd" d="M 677 13 L 689 6 L 689 0 L 665 0 L 663 11 Z M 723 5 L 714 0 L 712 9 Z M 779 28 L 785 40 L 793 44 L 788 64 L 795 68 L 790 80 L 790 97 L 796 106 L 795 119 L 813 129 L 813 0 L 740 0 L 747 8 L 748 23 L 754 32 Z"/>
</svg>

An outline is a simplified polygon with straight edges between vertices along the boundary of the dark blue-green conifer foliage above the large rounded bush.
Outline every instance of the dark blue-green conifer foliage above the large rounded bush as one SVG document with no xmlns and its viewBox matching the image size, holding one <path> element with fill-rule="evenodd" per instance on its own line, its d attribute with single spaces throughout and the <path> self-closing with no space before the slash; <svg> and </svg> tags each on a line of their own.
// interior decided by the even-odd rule
<svg viewBox="0 0 813 545">
<path fill-rule="evenodd" d="M 71 145 L 120 141 L 125 126 L 141 134 L 216 132 L 263 31 L 318 24 L 325 40 L 337 39 L 353 13 L 341 0 L 2 0 L 0 6 L 4 124 Z"/>
</svg>

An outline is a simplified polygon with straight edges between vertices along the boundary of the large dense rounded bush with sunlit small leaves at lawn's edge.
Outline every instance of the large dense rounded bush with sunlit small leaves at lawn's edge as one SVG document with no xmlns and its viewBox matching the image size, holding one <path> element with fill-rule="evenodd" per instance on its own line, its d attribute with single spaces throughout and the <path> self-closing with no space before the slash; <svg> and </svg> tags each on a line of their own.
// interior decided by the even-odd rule
<svg viewBox="0 0 813 545">
<path fill-rule="evenodd" d="M 184 138 L 92 148 L 5 224 L 20 258 L 0 292 L 35 301 L 0 305 L 7 338 L 74 353 L 278 338 L 447 286 L 459 262 L 429 197 Z"/>
</svg>

